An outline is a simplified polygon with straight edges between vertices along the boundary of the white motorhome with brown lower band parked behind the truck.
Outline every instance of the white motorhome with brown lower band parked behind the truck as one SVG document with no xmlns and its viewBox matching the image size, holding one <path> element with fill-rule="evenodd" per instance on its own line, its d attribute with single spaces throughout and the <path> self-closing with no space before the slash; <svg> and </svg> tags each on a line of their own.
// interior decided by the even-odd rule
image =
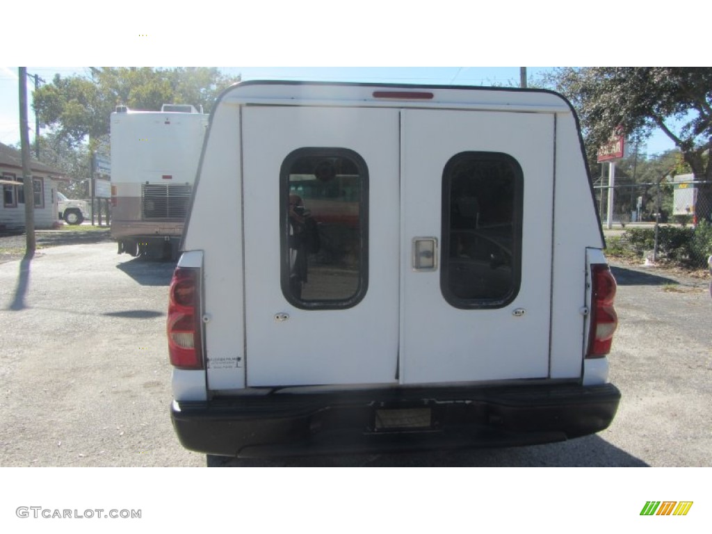
<svg viewBox="0 0 712 534">
<path fill-rule="evenodd" d="M 176 258 L 208 115 L 192 105 L 111 114 L 111 235 L 118 253 Z"/>
</svg>

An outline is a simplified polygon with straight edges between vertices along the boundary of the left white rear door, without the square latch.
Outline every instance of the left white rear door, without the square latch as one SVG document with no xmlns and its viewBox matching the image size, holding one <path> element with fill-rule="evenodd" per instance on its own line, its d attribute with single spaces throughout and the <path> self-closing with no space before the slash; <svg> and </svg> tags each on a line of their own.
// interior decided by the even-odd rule
<svg viewBox="0 0 712 534">
<path fill-rule="evenodd" d="M 395 382 L 399 113 L 248 106 L 242 130 L 248 386 Z"/>
</svg>

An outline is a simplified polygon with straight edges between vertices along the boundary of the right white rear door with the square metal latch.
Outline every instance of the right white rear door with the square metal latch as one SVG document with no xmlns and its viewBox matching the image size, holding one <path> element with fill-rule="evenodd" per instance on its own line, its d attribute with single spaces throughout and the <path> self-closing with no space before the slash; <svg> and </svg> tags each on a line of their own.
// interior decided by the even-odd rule
<svg viewBox="0 0 712 534">
<path fill-rule="evenodd" d="M 547 377 L 553 115 L 402 121 L 400 381 Z"/>
</svg>

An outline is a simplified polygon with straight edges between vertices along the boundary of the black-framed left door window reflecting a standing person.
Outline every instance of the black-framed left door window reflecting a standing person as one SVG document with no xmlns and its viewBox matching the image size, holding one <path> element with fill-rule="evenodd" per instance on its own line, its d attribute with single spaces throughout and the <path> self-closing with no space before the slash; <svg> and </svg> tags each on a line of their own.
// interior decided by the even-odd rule
<svg viewBox="0 0 712 534">
<path fill-rule="evenodd" d="M 281 283 L 303 309 L 356 305 L 367 289 L 368 169 L 342 148 L 302 148 L 281 168 Z"/>
</svg>

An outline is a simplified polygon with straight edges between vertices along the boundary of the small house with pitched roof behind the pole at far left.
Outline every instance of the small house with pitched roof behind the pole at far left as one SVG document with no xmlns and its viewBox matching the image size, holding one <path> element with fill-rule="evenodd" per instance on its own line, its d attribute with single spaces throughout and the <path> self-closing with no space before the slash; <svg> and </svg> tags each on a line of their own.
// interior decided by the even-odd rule
<svg viewBox="0 0 712 534">
<path fill-rule="evenodd" d="M 31 159 L 35 228 L 53 228 L 59 223 L 57 181 L 66 180 L 59 169 Z M 25 228 L 25 194 L 22 178 L 22 156 L 19 150 L 0 143 L 0 231 Z"/>
</svg>

